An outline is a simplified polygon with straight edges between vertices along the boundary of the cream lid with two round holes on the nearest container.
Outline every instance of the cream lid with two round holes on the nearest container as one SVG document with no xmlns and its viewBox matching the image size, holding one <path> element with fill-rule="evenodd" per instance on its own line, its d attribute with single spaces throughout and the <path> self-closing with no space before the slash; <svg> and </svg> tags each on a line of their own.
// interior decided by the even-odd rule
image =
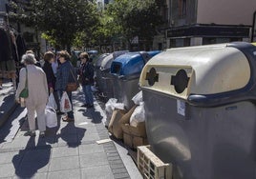
<svg viewBox="0 0 256 179">
<path fill-rule="evenodd" d="M 242 43 L 244 49 L 250 48 Z M 141 72 L 139 85 L 187 99 L 191 94 L 220 94 L 243 89 L 251 78 L 245 52 L 232 44 L 177 48 L 153 57 Z M 256 49 L 254 52 L 254 60 Z"/>
</svg>

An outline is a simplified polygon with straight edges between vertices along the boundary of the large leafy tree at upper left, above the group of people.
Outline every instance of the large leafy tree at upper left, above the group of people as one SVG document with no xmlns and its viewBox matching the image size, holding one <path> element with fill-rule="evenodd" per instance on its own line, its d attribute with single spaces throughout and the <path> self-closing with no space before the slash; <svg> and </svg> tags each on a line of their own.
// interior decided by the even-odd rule
<svg viewBox="0 0 256 179">
<path fill-rule="evenodd" d="M 98 21 L 96 4 L 89 0 L 30 0 L 22 5 L 12 16 L 44 32 L 58 49 L 71 50 L 75 36 L 92 33 Z"/>
</svg>

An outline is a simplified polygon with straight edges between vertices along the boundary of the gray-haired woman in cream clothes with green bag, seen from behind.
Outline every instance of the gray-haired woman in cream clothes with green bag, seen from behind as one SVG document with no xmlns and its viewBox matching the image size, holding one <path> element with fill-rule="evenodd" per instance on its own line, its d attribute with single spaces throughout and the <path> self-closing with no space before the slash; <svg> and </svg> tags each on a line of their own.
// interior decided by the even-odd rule
<svg viewBox="0 0 256 179">
<path fill-rule="evenodd" d="M 29 96 L 26 98 L 26 108 L 28 109 L 28 121 L 30 131 L 26 134 L 35 136 L 35 111 L 37 114 L 37 126 L 40 130 L 40 136 L 45 135 L 45 108 L 48 101 L 48 84 L 45 72 L 35 66 L 36 60 L 31 53 L 22 56 L 21 63 L 24 63 L 26 68 L 20 70 L 19 84 L 16 90 L 15 99 L 20 102 L 20 93 L 26 86 L 29 89 Z"/>
</svg>

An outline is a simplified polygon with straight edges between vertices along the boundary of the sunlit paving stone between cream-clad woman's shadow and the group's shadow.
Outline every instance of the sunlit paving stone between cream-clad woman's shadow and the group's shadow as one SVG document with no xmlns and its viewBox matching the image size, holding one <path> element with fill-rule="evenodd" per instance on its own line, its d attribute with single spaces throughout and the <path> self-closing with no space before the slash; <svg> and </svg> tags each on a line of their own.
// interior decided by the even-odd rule
<svg viewBox="0 0 256 179">
<path fill-rule="evenodd" d="M 66 147 L 59 147 L 59 148 L 53 148 L 52 150 L 52 158 L 56 157 L 64 157 L 64 156 L 74 156 L 78 155 L 78 149 L 77 148 L 69 148 Z"/>
</svg>

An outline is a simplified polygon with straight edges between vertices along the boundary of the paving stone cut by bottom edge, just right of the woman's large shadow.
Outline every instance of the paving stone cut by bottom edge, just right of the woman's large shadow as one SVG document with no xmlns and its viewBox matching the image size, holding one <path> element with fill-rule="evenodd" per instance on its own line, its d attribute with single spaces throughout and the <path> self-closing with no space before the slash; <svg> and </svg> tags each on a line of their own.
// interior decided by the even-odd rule
<svg viewBox="0 0 256 179">
<path fill-rule="evenodd" d="M 65 169 L 48 173 L 48 179 L 79 179 L 80 169 Z"/>
</svg>

